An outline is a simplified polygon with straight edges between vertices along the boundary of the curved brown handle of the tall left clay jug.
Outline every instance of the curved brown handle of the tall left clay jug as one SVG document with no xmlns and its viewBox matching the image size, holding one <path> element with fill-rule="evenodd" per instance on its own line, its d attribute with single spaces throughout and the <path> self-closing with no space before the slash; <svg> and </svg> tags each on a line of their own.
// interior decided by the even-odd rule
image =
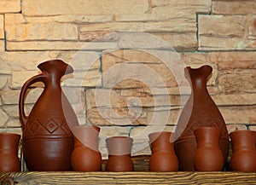
<svg viewBox="0 0 256 185">
<path fill-rule="evenodd" d="M 32 78 L 29 78 L 25 84 L 23 84 L 21 90 L 20 90 L 20 99 L 19 99 L 19 113 L 20 113 L 20 122 L 23 128 L 26 127 L 26 121 L 27 116 L 24 111 L 24 101 L 25 101 L 25 95 L 26 90 L 31 86 L 32 84 L 35 84 L 36 82 L 43 82 L 45 84 L 46 75 L 44 73 L 38 74 Z"/>
</svg>

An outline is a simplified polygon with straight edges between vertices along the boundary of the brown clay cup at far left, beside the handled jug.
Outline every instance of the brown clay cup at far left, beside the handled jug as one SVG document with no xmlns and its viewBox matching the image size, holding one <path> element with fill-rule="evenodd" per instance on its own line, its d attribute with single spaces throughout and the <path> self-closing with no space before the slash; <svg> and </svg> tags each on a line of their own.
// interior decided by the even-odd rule
<svg viewBox="0 0 256 185">
<path fill-rule="evenodd" d="M 19 143 L 20 135 L 0 133 L 0 172 L 20 171 Z"/>
</svg>

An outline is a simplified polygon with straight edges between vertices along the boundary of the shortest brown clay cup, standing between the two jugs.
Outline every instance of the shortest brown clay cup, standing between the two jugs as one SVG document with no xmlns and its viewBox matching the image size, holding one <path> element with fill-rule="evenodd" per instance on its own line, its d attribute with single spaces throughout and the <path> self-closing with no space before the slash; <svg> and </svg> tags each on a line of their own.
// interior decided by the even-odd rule
<svg viewBox="0 0 256 185">
<path fill-rule="evenodd" d="M 106 139 L 108 161 L 106 171 L 133 171 L 131 147 L 133 139 L 126 136 L 113 136 Z"/>
</svg>

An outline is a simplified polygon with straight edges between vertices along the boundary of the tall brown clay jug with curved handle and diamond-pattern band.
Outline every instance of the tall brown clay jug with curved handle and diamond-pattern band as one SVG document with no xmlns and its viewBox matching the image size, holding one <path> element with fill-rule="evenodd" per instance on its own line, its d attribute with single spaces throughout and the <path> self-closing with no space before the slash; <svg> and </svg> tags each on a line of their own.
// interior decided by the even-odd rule
<svg viewBox="0 0 256 185">
<path fill-rule="evenodd" d="M 73 68 L 61 60 L 45 61 L 38 68 L 42 72 L 28 79 L 20 91 L 19 111 L 26 166 L 29 171 L 70 171 L 73 134 L 69 125 L 79 123 L 61 90 L 61 77 L 73 72 Z M 26 116 L 26 91 L 37 82 L 44 84 L 44 91 Z"/>
</svg>

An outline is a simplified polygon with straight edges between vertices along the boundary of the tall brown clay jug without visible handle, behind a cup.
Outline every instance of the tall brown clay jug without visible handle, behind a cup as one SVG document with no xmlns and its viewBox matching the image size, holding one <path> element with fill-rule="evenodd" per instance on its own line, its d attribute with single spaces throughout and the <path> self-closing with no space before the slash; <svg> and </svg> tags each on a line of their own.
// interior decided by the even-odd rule
<svg viewBox="0 0 256 185">
<path fill-rule="evenodd" d="M 196 141 L 194 130 L 200 127 L 218 127 L 221 130 L 219 146 L 226 161 L 229 153 L 229 135 L 218 107 L 207 91 L 207 78 L 211 66 L 185 68 L 185 76 L 191 85 L 191 95 L 177 121 L 175 135 L 176 154 L 180 171 L 195 171 L 194 158 Z"/>
</svg>

